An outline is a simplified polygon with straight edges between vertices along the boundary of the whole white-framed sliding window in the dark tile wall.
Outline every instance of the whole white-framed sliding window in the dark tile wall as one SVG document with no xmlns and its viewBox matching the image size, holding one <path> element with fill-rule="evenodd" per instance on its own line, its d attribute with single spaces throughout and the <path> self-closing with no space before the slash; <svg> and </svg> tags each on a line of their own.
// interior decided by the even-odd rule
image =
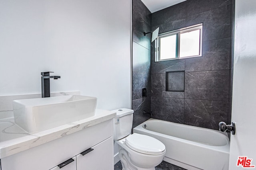
<svg viewBox="0 0 256 170">
<path fill-rule="evenodd" d="M 202 28 L 200 23 L 159 34 L 155 41 L 155 61 L 202 56 Z"/>
</svg>

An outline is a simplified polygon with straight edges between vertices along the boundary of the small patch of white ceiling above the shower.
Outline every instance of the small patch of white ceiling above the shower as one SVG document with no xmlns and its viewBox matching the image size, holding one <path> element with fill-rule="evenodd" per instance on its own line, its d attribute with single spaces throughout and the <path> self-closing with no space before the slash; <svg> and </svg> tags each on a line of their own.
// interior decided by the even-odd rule
<svg viewBox="0 0 256 170">
<path fill-rule="evenodd" d="M 151 13 L 173 6 L 186 0 L 141 0 Z"/>
</svg>

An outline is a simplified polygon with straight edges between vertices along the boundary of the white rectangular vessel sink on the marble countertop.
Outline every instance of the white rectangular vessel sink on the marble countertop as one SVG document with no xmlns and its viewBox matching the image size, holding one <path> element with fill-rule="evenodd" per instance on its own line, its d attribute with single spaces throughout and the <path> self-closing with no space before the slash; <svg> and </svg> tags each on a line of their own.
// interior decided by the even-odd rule
<svg viewBox="0 0 256 170">
<path fill-rule="evenodd" d="M 97 98 L 70 95 L 14 100 L 12 104 L 16 125 L 36 133 L 94 116 Z"/>
</svg>

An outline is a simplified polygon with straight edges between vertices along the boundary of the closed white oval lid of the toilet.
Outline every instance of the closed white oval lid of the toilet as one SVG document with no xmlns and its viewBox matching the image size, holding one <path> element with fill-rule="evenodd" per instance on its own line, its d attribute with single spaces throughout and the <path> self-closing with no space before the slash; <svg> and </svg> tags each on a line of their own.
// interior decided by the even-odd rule
<svg viewBox="0 0 256 170">
<path fill-rule="evenodd" d="M 147 135 L 133 133 L 126 137 L 125 141 L 130 149 L 144 154 L 162 154 L 165 150 L 162 142 Z"/>
</svg>

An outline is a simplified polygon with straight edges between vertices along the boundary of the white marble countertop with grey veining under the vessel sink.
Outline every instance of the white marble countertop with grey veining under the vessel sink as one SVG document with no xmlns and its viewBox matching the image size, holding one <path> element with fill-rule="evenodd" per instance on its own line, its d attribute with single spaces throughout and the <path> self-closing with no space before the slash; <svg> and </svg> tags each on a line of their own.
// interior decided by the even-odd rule
<svg viewBox="0 0 256 170">
<path fill-rule="evenodd" d="M 29 134 L 14 123 L 14 118 L 0 119 L 0 158 L 42 145 L 116 117 L 113 111 L 96 109 L 93 117 Z"/>
</svg>

